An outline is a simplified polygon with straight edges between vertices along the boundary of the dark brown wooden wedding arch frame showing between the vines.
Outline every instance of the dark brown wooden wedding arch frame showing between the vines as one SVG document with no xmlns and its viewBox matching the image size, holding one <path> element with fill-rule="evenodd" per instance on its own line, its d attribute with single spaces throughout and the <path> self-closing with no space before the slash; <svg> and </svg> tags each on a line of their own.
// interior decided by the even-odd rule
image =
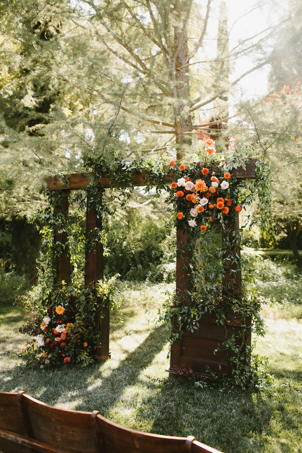
<svg viewBox="0 0 302 453">
<path fill-rule="evenodd" d="M 246 165 L 246 168 L 238 167 L 237 169 L 232 170 L 232 175 L 237 179 L 254 179 L 255 176 L 255 159 L 251 159 L 249 164 Z M 146 185 L 146 180 L 144 179 L 146 172 L 145 171 L 136 171 L 130 178 L 134 187 L 140 187 Z M 175 179 L 173 173 L 166 175 L 166 183 L 170 183 Z M 68 185 L 64 182 L 62 176 L 55 176 L 48 178 L 47 188 L 50 191 L 61 191 L 63 194 L 63 206 L 61 209 L 65 215 L 68 213 L 68 196 L 69 193 L 73 190 L 79 190 L 86 188 L 91 184 L 91 180 L 94 181 L 96 185 L 101 185 L 103 188 L 119 188 L 120 184 L 113 181 L 109 173 L 102 173 L 100 177 L 96 178 L 93 173 L 87 175 L 82 175 L 75 173 L 69 176 Z M 147 180 L 148 182 L 148 180 Z M 86 203 L 86 240 L 89 240 L 91 231 L 96 227 L 101 229 L 102 219 L 96 215 L 96 205 L 93 201 L 92 196 L 90 199 L 87 199 Z M 54 207 L 56 209 L 56 207 Z M 236 217 L 233 225 L 231 225 L 234 231 L 239 229 L 239 214 L 236 212 Z M 58 256 L 57 260 L 57 272 L 55 277 L 55 282 L 64 280 L 67 284 L 71 281 L 71 267 L 70 267 L 70 255 L 67 246 L 67 233 L 62 231 L 60 226 L 57 226 L 54 231 L 54 241 L 60 242 L 62 246 L 62 255 Z M 223 231 L 222 231 L 222 241 L 223 241 Z M 176 289 L 187 290 L 189 288 L 189 270 L 186 270 L 186 262 L 189 259 L 189 255 L 182 252 L 184 246 L 188 244 L 188 232 L 183 231 L 181 228 L 177 228 L 177 253 L 176 253 Z M 237 247 L 236 243 L 233 243 L 231 249 L 225 251 L 225 258 L 227 258 L 228 268 L 225 272 L 223 280 L 226 282 L 234 278 L 234 265 L 232 264 L 231 256 L 240 254 L 240 250 Z M 229 259 L 228 259 L 229 258 Z M 97 282 L 98 280 L 103 280 L 104 270 L 103 270 L 103 245 L 101 242 L 97 243 L 96 250 L 88 251 L 85 253 L 85 285 L 89 286 L 92 282 Z M 233 271 L 232 271 L 233 270 Z M 241 282 L 240 271 L 235 273 L 236 282 L 239 285 Z M 108 308 L 101 308 L 102 318 L 100 318 L 100 309 L 96 317 L 96 330 L 101 333 L 101 346 L 97 348 L 96 357 L 99 361 L 106 361 L 110 358 L 110 349 L 109 349 L 109 327 L 110 327 L 110 313 Z M 235 324 L 234 324 L 235 323 Z M 236 326 L 236 319 L 234 317 L 229 320 L 230 326 Z M 179 368 L 188 368 L 193 367 L 193 371 L 198 373 L 205 374 L 205 366 L 214 366 L 214 369 L 219 372 L 224 372 L 226 369 L 225 362 L 221 357 L 215 357 L 213 355 L 213 341 L 221 341 L 221 333 L 216 334 L 215 321 L 211 319 L 206 319 L 206 322 L 203 325 L 203 331 L 197 338 L 193 336 L 192 338 L 184 338 L 183 340 L 177 340 L 173 343 L 171 347 L 171 360 L 170 368 L 168 371 L 170 373 L 177 372 Z M 198 335 L 197 335 L 198 336 Z M 217 338 L 216 338 L 217 337 Z M 185 344 L 183 343 L 185 342 Z M 245 334 L 244 343 L 250 345 L 250 335 Z M 215 347 L 214 347 L 215 348 Z M 200 350 L 204 354 L 200 355 Z M 222 369 L 221 369 L 221 365 Z M 195 369 L 194 369 L 195 368 Z"/>
</svg>

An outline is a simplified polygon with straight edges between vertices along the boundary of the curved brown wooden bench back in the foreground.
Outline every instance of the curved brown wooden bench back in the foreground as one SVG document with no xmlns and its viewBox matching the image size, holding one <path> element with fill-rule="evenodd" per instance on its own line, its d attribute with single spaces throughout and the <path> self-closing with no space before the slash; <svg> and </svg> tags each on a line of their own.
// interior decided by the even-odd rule
<svg viewBox="0 0 302 453">
<path fill-rule="evenodd" d="M 98 411 L 58 409 L 23 391 L 0 392 L 1 453 L 221 453 L 194 437 L 124 428 Z"/>
</svg>

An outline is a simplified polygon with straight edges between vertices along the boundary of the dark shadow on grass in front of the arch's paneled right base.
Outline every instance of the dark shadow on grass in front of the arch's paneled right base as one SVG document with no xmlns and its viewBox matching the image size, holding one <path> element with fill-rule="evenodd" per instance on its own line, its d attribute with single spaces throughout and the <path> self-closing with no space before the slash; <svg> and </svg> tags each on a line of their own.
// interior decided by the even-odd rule
<svg viewBox="0 0 302 453">
<path fill-rule="evenodd" d="M 143 400 L 137 422 L 151 418 L 154 434 L 193 435 L 225 453 L 254 453 L 261 451 L 254 448 L 254 439 L 269 428 L 271 416 L 271 406 L 260 393 L 215 387 L 201 390 L 191 382 L 177 382 L 154 389 Z"/>
</svg>

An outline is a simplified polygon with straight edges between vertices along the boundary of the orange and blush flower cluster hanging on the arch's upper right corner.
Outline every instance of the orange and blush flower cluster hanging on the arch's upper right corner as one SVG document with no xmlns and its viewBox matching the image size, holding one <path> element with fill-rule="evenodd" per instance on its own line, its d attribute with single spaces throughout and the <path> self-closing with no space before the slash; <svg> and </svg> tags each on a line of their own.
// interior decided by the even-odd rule
<svg viewBox="0 0 302 453">
<path fill-rule="evenodd" d="M 212 155 L 215 149 L 213 140 L 206 140 L 206 154 Z M 175 162 L 173 161 L 173 167 Z M 174 167 L 174 172 L 180 176 L 171 184 L 169 202 L 174 203 L 176 222 L 187 221 L 191 229 L 198 227 L 206 231 L 209 222 L 221 221 L 233 210 L 240 212 L 242 207 L 235 204 L 232 194 L 233 179 L 229 172 L 223 171 L 215 161 L 208 164 L 198 162 Z"/>
</svg>

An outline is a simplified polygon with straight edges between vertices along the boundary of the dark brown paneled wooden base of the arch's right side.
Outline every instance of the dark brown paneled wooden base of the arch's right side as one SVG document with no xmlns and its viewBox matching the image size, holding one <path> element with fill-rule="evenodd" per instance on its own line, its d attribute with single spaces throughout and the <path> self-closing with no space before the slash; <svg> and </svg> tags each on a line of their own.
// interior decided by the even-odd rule
<svg viewBox="0 0 302 453">
<path fill-rule="evenodd" d="M 167 371 L 170 374 L 178 374 L 179 369 L 191 368 L 196 374 L 209 376 L 206 367 L 220 374 L 232 378 L 232 367 L 227 360 L 227 352 L 214 351 L 232 333 L 240 333 L 238 345 L 243 344 L 243 351 L 247 345 L 251 344 L 250 327 L 244 330 L 242 327 L 246 323 L 250 326 L 251 319 L 246 318 L 245 322 L 235 313 L 227 313 L 225 326 L 216 324 L 216 316 L 204 314 L 198 321 L 199 328 L 193 332 L 183 329 L 182 337 L 177 338 L 171 345 L 170 367 Z M 174 331 L 178 332 L 176 323 Z"/>
</svg>

